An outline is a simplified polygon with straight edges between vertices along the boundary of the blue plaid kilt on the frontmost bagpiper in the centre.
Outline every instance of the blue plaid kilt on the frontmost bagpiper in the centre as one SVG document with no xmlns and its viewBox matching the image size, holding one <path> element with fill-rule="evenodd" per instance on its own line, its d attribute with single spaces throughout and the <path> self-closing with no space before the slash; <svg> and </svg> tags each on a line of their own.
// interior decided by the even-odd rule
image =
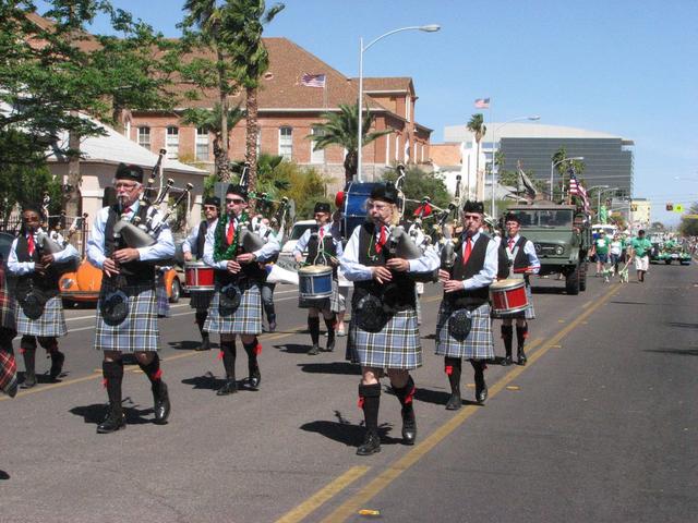
<svg viewBox="0 0 698 523">
<path fill-rule="evenodd" d="M 413 308 L 396 313 L 380 332 L 349 323 L 346 358 L 362 367 L 414 369 L 422 366 L 422 345 Z"/>
</svg>

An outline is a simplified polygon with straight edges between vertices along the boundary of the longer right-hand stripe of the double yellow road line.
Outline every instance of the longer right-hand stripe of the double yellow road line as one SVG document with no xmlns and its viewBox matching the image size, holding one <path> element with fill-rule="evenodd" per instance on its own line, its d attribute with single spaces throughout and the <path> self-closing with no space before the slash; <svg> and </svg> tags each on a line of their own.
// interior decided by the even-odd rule
<svg viewBox="0 0 698 523">
<path fill-rule="evenodd" d="M 524 370 L 530 368 L 530 366 L 540 360 L 553 345 L 559 343 L 559 341 L 567 336 L 573 329 L 575 329 L 578 325 L 581 324 L 587 317 L 589 317 L 594 311 L 597 311 L 601 305 L 603 305 L 610 297 L 611 294 L 616 290 L 618 284 L 616 283 L 610 291 L 607 291 L 600 300 L 598 300 L 593 306 L 589 307 L 587 311 L 581 313 L 579 317 L 577 317 L 574 321 L 563 328 L 559 332 L 553 336 L 543 346 L 541 346 L 535 352 L 531 353 L 528 358 L 527 366 L 517 366 L 513 370 L 508 372 L 502 379 L 500 379 L 493 387 L 489 389 L 490 398 L 495 397 L 498 392 L 501 392 L 510 381 L 516 379 Z M 456 428 L 464 424 L 466 419 L 472 416 L 476 412 L 480 410 L 478 405 L 468 405 L 465 409 L 461 409 L 458 414 L 452 417 L 444 425 L 438 427 L 434 433 L 432 433 L 424 441 L 414 447 L 411 451 L 405 454 L 402 458 L 393 463 L 393 465 L 388 466 L 375 479 L 369 483 L 364 488 L 359 490 L 356 496 L 352 496 L 350 499 L 340 504 L 335 511 L 333 511 L 329 515 L 327 515 L 323 523 L 337 523 L 340 521 L 346 521 L 357 513 L 359 509 L 362 507 L 366 507 L 368 502 L 371 501 L 375 496 L 378 495 L 384 488 L 386 488 L 390 483 L 393 483 L 400 474 L 402 474 L 406 470 L 417 463 L 421 458 L 423 458 L 426 453 L 429 453 L 436 445 L 443 441 L 446 436 L 452 434 Z"/>
</svg>

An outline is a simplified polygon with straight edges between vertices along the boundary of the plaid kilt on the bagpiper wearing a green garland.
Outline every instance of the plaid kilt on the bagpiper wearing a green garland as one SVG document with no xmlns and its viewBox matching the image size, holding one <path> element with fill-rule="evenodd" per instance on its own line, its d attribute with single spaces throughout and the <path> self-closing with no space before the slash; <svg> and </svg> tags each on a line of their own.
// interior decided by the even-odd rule
<svg viewBox="0 0 698 523">
<path fill-rule="evenodd" d="M 240 306 L 229 316 L 218 312 L 220 301 L 219 288 L 216 287 L 214 297 L 208 307 L 208 317 L 204 324 L 206 332 L 220 335 L 260 335 L 262 333 L 262 293 L 258 283 L 241 285 Z"/>
</svg>

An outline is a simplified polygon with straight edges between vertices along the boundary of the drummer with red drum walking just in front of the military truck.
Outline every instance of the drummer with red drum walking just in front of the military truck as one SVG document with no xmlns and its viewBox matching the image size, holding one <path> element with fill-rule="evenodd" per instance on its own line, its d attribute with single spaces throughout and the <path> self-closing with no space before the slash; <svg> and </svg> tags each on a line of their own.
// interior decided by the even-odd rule
<svg viewBox="0 0 698 523">
<path fill-rule="evenodd" d="M 513 320 L 516 319 L 516 363 L 526 365 L 526 353 L 524 344 L 528 338 L 528 320 L 535 318 L 533 302 L 531 300 L 531 283 L 529 275 L 537 275 L 541 268 L 541 263 L 535 255 L 533 242 L 519 234 L 521 219 L 515 212 L 508 212 L 504 218 L 506 236 L 500 245 L 500 252 L 506 255 L 508 260 L 508 278 L 526 280 L 526 296 L 528 297 L 528 308 L 518 313 L 493 313 L 493 318 L 502 318 L 502 339 L 506 355 L 502 365 L 512 365 L 512 344 L 514 341 Z"/>
</svg>

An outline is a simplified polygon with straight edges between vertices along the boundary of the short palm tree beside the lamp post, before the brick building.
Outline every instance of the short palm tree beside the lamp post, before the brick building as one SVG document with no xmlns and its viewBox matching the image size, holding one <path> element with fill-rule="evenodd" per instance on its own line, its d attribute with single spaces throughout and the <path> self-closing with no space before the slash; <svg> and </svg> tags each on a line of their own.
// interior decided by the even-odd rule
<svg viewBox="0 0 698 523">
<path fill-rule="evenodd" d="M 317 129 L 321 131 L 320 137 L 317 135 L 308 135 L 305 138 L 314 139 L 315 150 L 325 149 L 332 145 L 338 145 L 344 147 L 347 151 L 345 156 L 345 180 L 347 183 L 353 180 L 353 177 L 357 174 L 357 163 L 358 163 L 358 149 L 357 149 L 357 121 L 359 113 L 357 106 L 349 106 L 347 104 L 339 104 L 339 112 L 325 112 L 322 114 L 322 118 L 326 120 L 326 122 L 317 125 Z M 376 138 L 390 134 L 392 130 L 386 131 L 374 131 L 371 133 L 366 133 L 365 130 L 371 129 L 371 123 L 373 122 L 373 117 L 371 115 L 371 111 L 366 107 L 366 112 L 362 118 L 361 129 L 364 130 L 362 146 L 370 144 Z"/>
</svg>

